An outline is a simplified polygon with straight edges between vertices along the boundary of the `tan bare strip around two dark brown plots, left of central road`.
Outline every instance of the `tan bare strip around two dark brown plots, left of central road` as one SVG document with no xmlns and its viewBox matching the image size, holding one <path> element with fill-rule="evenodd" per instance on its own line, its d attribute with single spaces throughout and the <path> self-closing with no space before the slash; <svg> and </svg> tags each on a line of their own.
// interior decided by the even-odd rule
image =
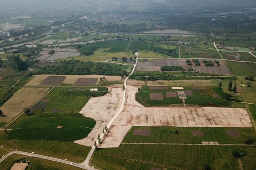
<svg viewBox="0 0 256 170">
<path fill-rule="evenodd" d="M 36 75 L 26 86 L 40 86 L 45 78 L 48 76 L 60 76 L 60 75 Z M 97 78 L 105 77 L 107 81 L 120 81 L 120 76 L 102 76 L 102 75 L 63 75 L 66 76 L 64 84 L 74 84 L 79 78 Z M 98 80 L 99 81 L 99 80 Z M 98 82 L 97 82 L 98 83 Z"/>
</svg>

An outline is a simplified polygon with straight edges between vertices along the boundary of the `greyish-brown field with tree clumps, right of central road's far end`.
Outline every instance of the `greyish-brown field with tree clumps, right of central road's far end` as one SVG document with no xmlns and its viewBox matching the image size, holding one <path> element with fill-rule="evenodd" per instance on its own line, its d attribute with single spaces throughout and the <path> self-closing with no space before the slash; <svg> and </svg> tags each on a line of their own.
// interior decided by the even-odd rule
<svg viewBox="0 0 256 170">
<path fill-rule="evenodd" d="M 202 62 L 202 60 L 199 60 Z M 184 69 L 192 68 L 199 73 L 214 73 L 220 75 L 232 75 L 225 62 L 219 60 L 220 66 L 194 66 L 188 65 L 186 59 L 156 59 L 148 62 L 139 62 L 136 66 L 137 71 L 161 71 L 161 67 L 167 66 L 182 66 Z"/>
</svg>

